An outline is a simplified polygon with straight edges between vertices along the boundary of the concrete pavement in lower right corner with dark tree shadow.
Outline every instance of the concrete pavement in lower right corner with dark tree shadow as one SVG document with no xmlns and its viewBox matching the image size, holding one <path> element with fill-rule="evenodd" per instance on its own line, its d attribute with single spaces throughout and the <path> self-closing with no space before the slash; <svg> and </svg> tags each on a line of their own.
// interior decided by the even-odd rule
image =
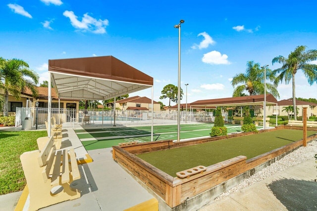
<svg viewBox="0 0 317 211">
<path fill-rule="evenodd" d="M 315 178 L 316 163 L 312 158 L 214 201 L 200 211 L 316 211 Z"/>
</svg>

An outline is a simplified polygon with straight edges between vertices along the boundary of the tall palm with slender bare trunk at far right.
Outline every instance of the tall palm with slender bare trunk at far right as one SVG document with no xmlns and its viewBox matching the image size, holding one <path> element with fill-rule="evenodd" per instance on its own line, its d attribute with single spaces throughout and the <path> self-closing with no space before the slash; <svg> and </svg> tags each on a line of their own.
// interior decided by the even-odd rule
<svg viewBox="0 0 317 211">
<path fill-rule="evenodd" d="M 272 60 L 272 64 L 278 62 L 282 67 L 273 71 L 273 74 L 279 74 L 274 84 L 278 84 L 285 80 L 288 84 L 292 79 L 293 87 L 293 107 L 296 108 L 296 95 L 295 95 L 295 74 L 298 70 L 304 72 L 305 77 L 310 85 L 317 82 L 317 65 L 310 64 L 309 62 L 317 59 L 317 50 L 306 50 L 306 46 L 297 46 L 294 52 L 291 52 L 287 58 L 284 56 L 276 56 Z M 294 109 L 294 119 L 297 120 L 297 111 Z"/>
</svg>

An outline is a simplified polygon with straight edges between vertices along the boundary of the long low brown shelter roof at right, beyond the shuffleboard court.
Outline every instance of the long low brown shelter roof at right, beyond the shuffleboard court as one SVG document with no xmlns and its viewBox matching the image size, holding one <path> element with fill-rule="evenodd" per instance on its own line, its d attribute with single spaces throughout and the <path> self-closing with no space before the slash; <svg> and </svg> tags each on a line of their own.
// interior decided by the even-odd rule
<svg viewBox="0 0 317 211">
<path fill-rule="evenodd" d="M 210 100 L 197 100 L 191 103 L 191 107 L 205 106 L 240 106 L 240 105 L 263 105 L 264 94 L 242 97 L 228 97 Z M 276 105 L 277 100 L 271 94 L 266 94 L 266 105 Z"/>
</svg>

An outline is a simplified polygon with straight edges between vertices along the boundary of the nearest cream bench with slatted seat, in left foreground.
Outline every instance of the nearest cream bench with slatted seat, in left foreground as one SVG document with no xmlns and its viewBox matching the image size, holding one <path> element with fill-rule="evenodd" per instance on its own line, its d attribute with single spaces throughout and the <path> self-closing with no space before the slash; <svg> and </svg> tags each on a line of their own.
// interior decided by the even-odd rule
<svg viewBox="0 0 317 211">
<path fill-rule="evenodd" d="M 80 197 L 80 191 L 70 186 L 80 179 L 73 148 L 56 150 L 51 136 L 42 150 L 25 152 L 20 160 L 29 188 L 28 210 L 39 210 Z"/>
</svg>

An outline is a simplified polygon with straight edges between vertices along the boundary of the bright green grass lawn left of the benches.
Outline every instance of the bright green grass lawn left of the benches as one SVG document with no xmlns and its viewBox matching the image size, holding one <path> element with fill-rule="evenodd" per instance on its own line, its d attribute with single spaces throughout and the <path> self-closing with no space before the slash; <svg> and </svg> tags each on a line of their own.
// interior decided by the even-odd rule
<svg viewBox="0 0 317 211">
<path fill-rule="evenodd" d="M 20 155 L 38 149 L 36 139 L 44 131 L 0 131 L 0 195 L 23 190 L 24 177 Z"/>
</svg>

